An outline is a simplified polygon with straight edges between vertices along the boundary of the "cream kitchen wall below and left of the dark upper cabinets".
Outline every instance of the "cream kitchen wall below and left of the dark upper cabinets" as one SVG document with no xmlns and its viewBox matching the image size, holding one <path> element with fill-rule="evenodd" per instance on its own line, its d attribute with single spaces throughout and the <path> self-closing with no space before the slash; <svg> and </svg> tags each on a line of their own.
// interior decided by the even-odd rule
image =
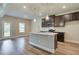
<svg viewBox="0 0 79 59">
<path fill-rule="evenodd" d="M 33 32 L 39 32 L 41 30 L 48 31 L 49 29 L 55 29 L 58 32 L 65 32 L 65 41 L 79 43 L 79 21 L 66 22 L 65 27 L 41 27 L 41 20 L 37 19 L 36 22 L 32 21 Z"/>
</svg>

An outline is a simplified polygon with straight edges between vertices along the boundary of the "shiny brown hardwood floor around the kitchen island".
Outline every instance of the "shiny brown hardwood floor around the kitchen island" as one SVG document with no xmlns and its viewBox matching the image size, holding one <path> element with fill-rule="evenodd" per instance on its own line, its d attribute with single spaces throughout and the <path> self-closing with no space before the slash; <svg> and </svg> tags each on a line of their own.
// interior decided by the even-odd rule
<svg viewBox="0 0 79 59">
<path fill-rule="evenodd" d="M 54 54 L 29 44 L 28 37 L 0 41 L 0 55 L 78 55 L 79 44 L 58 42 Z"/>
</svg>

